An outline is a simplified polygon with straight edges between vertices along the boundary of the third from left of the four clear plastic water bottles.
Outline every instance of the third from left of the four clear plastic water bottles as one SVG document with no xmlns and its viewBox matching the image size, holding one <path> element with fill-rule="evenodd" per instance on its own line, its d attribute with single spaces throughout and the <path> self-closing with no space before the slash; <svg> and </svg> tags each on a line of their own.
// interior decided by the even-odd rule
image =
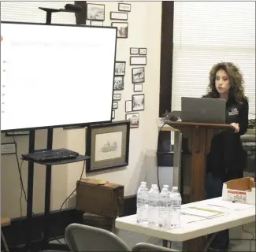
<svg viewBox="0 0 256 252">
<path fill-rule="evenodd" d="M 170 215 L 169 209 L 171 206 L 171 198 L 169 197 L 168 186 L 164 186 L 161 189 L 159 195 L 159 207 L 158 207 L 158 226 L 160 228 L 170 228 Z"/>
</svg>

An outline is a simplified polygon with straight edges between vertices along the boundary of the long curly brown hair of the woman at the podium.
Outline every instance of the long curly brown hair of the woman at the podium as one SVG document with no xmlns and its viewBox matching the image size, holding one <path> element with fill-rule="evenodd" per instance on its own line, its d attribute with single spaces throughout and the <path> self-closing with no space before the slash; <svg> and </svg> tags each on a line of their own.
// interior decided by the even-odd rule
<svg viewBox="0 0 256 252">
<path fill-rule="evenodd" d="M 243 74 L 240 71 L 240 69 L 231 62 L 221 62 L 221 63 L 217 63 L 216 65 L 213 65 L 213 68 L 210 70 L 210 76 L 209 76 L 210 83 L 207 87 L 207 95 L 205 97 L 208 97 L 208 98 L 220 97 L 215 87 L 216 73 L 220 69 L 223 69 L 225 72 L 228 73 L 228 77 L 231 85 L 229 90 L 229 98 L 232 98 L 239 103 L 246 102 L 247 97 L 244 95 Z"/>
</svg>

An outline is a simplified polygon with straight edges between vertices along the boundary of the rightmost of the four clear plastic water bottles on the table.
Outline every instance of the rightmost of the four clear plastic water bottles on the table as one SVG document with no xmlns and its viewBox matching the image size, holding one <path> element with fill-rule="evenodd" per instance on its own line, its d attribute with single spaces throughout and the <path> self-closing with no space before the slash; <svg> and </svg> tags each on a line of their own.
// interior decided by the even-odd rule
<svg viewBox="0 0 256 252">
<path fill-rule="evenodd" d="M 181 196 L 178 187 L 173 187 L 170 193 L 171 207 L 170 207 L 170 223 L 171 228 L 180 228 L 180 208 Z"/>
</svg>

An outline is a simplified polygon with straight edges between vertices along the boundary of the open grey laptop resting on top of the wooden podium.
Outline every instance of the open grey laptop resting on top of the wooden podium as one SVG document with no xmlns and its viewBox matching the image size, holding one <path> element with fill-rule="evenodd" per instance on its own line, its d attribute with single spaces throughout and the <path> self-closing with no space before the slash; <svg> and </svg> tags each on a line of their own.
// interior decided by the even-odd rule
<svg viewBox="0 0 256 252">
<path fill-rule="evenodd" d="M 181 98 L 181 120 L 207 124 L 224 124 L 226 100 L 221 98 Z"/>
</svg>

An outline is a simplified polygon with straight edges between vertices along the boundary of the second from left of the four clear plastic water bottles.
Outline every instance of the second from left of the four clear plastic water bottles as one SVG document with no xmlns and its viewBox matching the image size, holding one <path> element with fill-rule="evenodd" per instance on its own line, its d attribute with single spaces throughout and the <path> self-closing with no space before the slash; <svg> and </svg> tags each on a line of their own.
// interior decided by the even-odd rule
<svg viewBox="0 0 256 252">
<path fill-rule="evenodd" d="M 152 186 L 148 198 L 148 224 L 150 227 L 158 226 L 158 186 Z"/>
</svg>

